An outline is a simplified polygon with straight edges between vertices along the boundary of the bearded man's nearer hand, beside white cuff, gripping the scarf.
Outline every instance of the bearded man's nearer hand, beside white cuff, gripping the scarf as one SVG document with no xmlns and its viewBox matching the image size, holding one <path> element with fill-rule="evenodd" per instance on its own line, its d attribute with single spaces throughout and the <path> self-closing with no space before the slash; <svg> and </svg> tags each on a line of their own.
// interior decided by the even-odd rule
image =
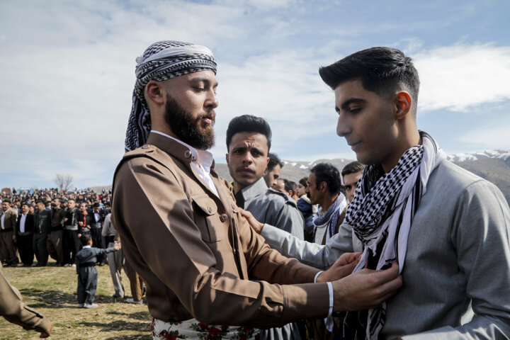
<svg viewBox="0 0 510 340">
<path fill-rule="evenodd" d="M 398 264 L 393 263 L 384 271 L 361 269 L 332 284 L 334 312 L 368 310 L 395 294 L 402 285 L 402 276 L 398 274 Z"/>
</svg>

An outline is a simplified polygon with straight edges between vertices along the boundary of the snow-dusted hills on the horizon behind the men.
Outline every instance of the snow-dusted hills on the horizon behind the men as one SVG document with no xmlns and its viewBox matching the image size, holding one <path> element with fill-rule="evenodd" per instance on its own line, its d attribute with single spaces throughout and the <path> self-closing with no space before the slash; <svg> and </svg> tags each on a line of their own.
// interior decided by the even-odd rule
<svg viewBox="0 0 510 340">
<path fill-rule="evenodd" d="M 450 154 L 448 160 L 462 166 L 464 169 L 477 174 L 483 179 L 494 183 L 502 191 L 506 202 L 510 204 L 510 151 L 491 150 L 485 152 L 470 152 L 467 154 Z M 329 162 L 339 171 L 352 159 L 317 159 L 314 162 L 283 161 L 281 177 L 290 181 L 299 181 L 310 174 L 310 169 L 317 163 Z M 227 164 L 216 164 L 215 169 L 225 179 L 232 181 Z"/>
</svg>

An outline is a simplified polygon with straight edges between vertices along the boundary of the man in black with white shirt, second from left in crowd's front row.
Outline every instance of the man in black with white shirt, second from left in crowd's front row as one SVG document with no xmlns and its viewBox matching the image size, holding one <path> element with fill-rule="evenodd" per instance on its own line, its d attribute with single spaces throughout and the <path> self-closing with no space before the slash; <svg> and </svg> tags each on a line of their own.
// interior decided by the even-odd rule
<svg viewBox="0 0 510 340">
<path fill-rule="evenodd" d="M 33 263 L 33 232 L 34 232 L 34 215 L 30 214 L 28 203 L 21 204 L 21 215 L 18 217 L 16 225 L 16 244 L 20 254 L 23 267 L 30 267 Z"/>
</svg>

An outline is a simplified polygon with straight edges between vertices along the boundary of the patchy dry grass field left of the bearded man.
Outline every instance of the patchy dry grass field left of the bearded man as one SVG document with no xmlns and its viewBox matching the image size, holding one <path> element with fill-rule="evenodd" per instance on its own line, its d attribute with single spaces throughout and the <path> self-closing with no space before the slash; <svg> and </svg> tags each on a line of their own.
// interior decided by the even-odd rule
<svg viewBox="0 0 510 340">
<path fill-rule="evenodd" d="M 98 308 L 77 308 L 76 268 L 55 267 L 3 268 L 4 276 L 20 291 L 23 302 L 49 318 L 55 340 L 150 340 L 147 305 L 130 305 L 112 297 L 114 290 L 108 266 L 98 268 Z M 123 273 L 126 295 L 130 297 L 128 277 Z M 6 322 L 0 317 L 0 339 L 39 339 L 35 331 Z"/>
</svg>

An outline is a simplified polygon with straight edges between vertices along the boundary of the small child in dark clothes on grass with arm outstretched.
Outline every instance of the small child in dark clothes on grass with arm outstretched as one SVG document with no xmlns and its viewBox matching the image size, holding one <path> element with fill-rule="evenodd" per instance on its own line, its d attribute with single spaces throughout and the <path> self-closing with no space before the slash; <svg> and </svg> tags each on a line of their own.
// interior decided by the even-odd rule
<svg viewBox="0 0 510 340">
<path fill-rule="evenodd" d="M 108 254 L 120 249 L 120 243 L 107 249 L 98 249 L 92 247 L 92 238 L 89 232 L 81 235 L 80 238 L 83 249 L 76 255 L 76 265 L 78 274 L 78 307 L 96 308 L 94 295 L 97 288 L 97 256 Z"/>
</svg>

